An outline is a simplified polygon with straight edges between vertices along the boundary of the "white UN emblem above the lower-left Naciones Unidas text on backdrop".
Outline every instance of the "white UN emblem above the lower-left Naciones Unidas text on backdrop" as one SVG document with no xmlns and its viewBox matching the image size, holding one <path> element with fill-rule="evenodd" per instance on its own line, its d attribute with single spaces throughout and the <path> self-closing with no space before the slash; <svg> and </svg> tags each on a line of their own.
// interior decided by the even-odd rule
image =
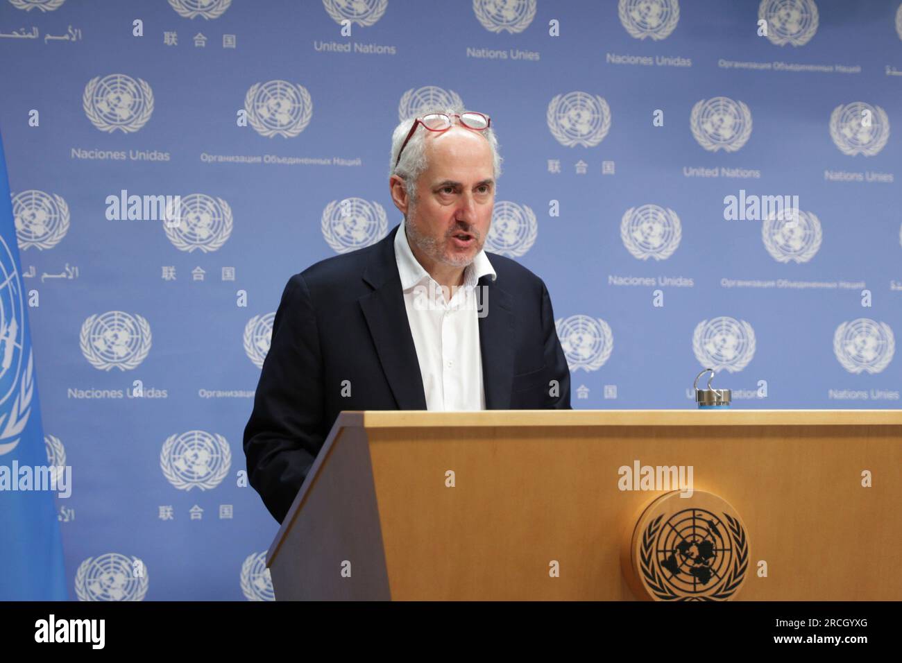
<svg viewBox="0 0 902 663">
<path fill-rule="evenodd" d="M 147 320 L 123 311 L 107 311 L 85 319 L 78 337 L 81 353 L 98 371 L 128 371 L 151 351 Z"/>
</svg>

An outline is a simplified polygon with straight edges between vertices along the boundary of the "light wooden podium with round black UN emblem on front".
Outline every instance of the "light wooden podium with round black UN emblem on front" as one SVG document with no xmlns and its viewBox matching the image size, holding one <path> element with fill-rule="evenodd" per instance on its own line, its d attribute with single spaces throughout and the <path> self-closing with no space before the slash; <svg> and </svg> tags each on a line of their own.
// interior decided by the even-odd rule
<svg viewBox="0 0 902 663">
<path fill-rule="evenodd" d="M 280 601 L 900 600 L 900 507 L 902 410 L 343 412 L 267 566 Z"/>
</svg>

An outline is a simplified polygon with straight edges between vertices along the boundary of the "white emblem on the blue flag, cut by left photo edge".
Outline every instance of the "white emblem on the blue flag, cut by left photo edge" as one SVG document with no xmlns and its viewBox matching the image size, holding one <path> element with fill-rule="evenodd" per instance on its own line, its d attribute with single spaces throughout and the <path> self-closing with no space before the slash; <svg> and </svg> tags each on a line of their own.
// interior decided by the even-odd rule
<svg viewBox="0 0 902 663">
<path fill-rule="evenodd" d="M 0 456 L 19 444 L 19 436 L 32 413 L 34 365 L 32 351 L 23 366 L 25 309 L 22 281 L 13 253 L 0 236 Z"/>
</svg>

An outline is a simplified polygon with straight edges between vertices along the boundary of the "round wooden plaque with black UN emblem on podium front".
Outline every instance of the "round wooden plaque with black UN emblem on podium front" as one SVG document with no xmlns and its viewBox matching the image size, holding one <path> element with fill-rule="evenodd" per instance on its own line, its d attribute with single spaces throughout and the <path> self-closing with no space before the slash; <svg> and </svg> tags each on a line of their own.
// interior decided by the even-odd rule
<svg viewBox="0 0 902 663">
<path fill-rule="evenodd" d="M 642 512 L 622 562 L 640 598 L 731 601 L 747 576 L 749 538 L 729 502 L 673 491 Z"/>
</svg>

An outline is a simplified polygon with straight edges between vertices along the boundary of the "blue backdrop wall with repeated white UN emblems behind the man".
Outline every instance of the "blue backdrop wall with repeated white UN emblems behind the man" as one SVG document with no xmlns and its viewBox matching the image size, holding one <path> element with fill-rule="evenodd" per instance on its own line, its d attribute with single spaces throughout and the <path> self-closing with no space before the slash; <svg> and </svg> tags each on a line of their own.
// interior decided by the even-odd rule
<svg viewBox="0 0 902 663">
<path fill-rule="evenodd" d="M 73 598 L 272 599 L 272 314 L 398 223 L 431 104 L 492 116 L 486 248 L 548 284 L 575 408 L 692 407 L 704 366 L 734 408 L 898 407 L 898 0 L 2 0 L 0 62 Z"/>
</svg>

